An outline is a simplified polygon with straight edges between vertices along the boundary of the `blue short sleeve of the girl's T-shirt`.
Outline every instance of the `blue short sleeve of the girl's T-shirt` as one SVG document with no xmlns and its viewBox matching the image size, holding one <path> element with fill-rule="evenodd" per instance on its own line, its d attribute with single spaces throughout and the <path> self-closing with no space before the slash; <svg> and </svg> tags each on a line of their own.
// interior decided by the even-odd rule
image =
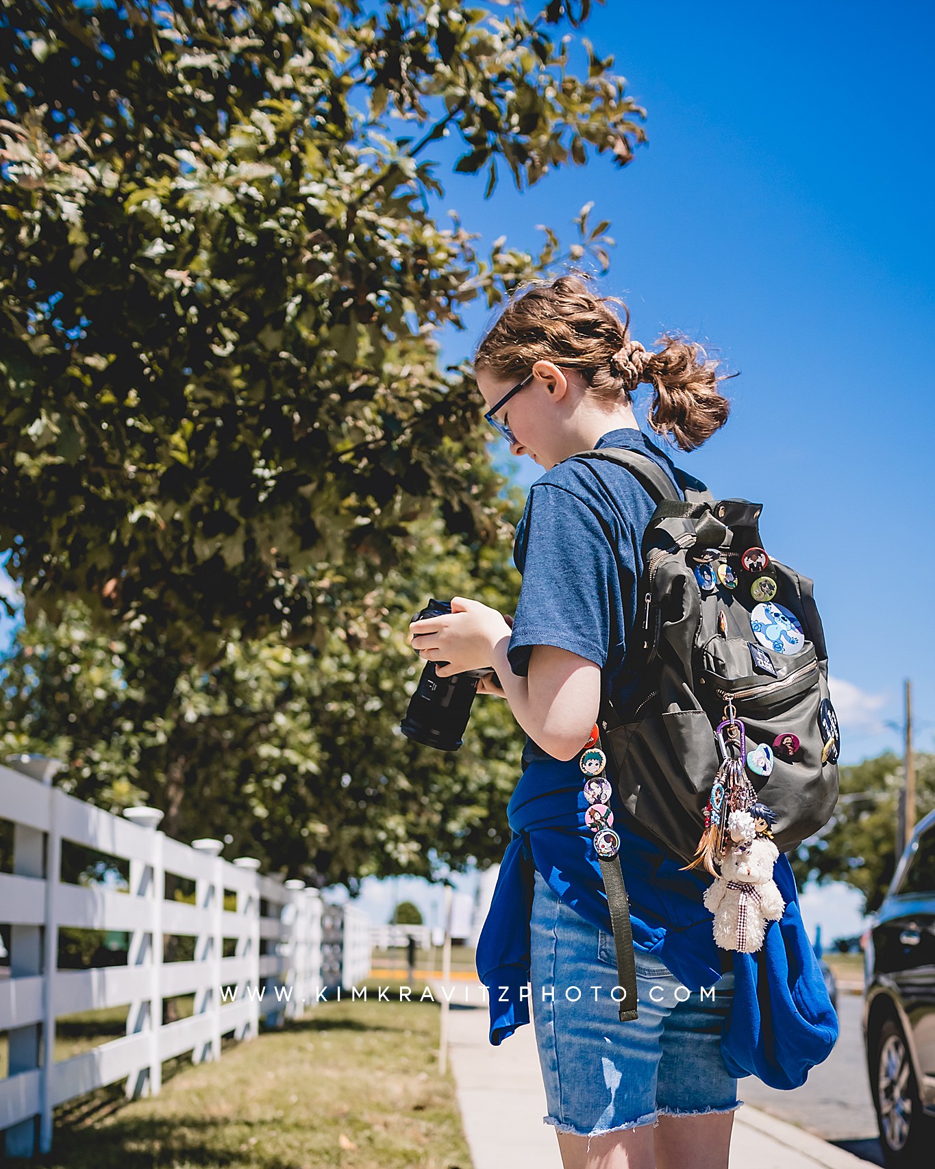
<svg viewBox="0 0 935 1169">
<path fill-rule="evenodd" d="M 533 645 L 556 645 L 602 667 L 607 663 L 621 586 L 614 534 L 605 524 L 570 491 L 533 485 L 515 555 L 522 587 L 507 649 L 514 673 L 528 673 Z"/>
</svg>

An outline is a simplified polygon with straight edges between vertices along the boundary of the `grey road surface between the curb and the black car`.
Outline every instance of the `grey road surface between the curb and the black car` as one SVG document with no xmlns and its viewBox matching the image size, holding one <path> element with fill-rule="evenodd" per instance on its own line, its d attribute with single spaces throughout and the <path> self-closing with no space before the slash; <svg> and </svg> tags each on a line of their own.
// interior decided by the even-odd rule
<svg viewBox="0 0 935 1169">
<path fill-rule="evenodd" d="M 791 1092 L 778 1092 L 760 1080 L 740 1080 L 737 1095 L 780 1120 L 805 1128 L 865 1161 L 881 1165 L 877 1114 L 870 1094 L 860 1017 L 860 995 L 838 994 L 840 1036 L 834 1050 Z"/>
</svg>

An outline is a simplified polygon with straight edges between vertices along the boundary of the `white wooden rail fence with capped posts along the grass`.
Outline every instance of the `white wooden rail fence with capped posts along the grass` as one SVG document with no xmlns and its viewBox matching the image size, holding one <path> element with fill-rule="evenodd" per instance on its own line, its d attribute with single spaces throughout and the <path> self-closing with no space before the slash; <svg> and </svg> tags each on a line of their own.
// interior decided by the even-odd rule
<svg viewBox="0 0 935 1169">
<path fill-rule="evenodd" d="M 368 976 L 370 924 L 355 906 L 323 906 L 316 890 L 262 876 L 250 857 L 223 860 L 220 841 L 189 848 L 171 839 L 153 809 L 123 818 L 65 795 L 50 786 L 55 761 L 23 756 L 15 767 L 0 765 L 0 816 L 14 824 L 14 872 L 0 873 L 0 921 L 11 926 L 9 969 L 0 970 L 8 1157 L 34 1155 L 36 1119 L 39 1150 L 50 1150 L 57 1105 L 124 1078 L 127 1095 L 154 1094 L 164 1060 L 189 1051 L 193 1063 L 217 1059 L 222 1036 L 254 1038 L 261 1018 L 282 1025 L 313 1005 L 323 985 L 349 988 Z M 62 881 L 63 839 L 129 862 L 130 888 Z M 166 900 L 166 873 L 194 881 L 194 904 Z M 226 891 L 236 909 L 224 908 Z M 125 931 L 127 964 L 58 969 L 60 927 Z M 194 936 L 193 961 L 164 961 L 171 934 Z M 224 940 L 233 941 L 228 957 Z M 162 999 L 186 994 L 194 994 L 194 1012 L 164 1024 Z M 55 1061 L 56 1017 L 124 1004 L 125 1036 Z"/>
</svg>

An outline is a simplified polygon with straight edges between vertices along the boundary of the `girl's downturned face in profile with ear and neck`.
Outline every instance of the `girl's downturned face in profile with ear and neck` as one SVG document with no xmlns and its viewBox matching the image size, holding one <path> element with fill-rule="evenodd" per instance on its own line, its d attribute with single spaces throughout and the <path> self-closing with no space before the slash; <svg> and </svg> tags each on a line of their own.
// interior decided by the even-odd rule
<svg viewBox="0 0 935 1169">
<path fill-rule="evenodd" d="M 574 437 L 563 434 L 573 399 L 580 396 L 580 390 L 572 383 L 575 371 L 566 374 L 550 361 L 536 361 L 531 372 L 533 380 L 510 399 L 498 417 L 508 423 L 515 436 L 511 452 L 528 455 L 534 463 L 549 470 L 581 449 Z M 489 371 L 480 369 L 476 380 L 490 409 L 521 379 L 497 381 Z"/>
</svg>

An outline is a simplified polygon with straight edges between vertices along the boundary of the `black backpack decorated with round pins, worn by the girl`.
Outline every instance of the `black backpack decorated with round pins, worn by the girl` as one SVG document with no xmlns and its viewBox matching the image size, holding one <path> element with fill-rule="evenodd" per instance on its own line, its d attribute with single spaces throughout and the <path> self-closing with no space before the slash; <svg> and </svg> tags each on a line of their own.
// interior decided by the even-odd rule
<svg viewBox="0 0 935 1169">
<path fill-rule="evenodd" d="M 715 500 L 677 470 L 679 499 L 639 451 L 605 447 L 573 457 L 619 463 L 657 503 L 642 541 L 638 638 L 624 660 L 636 690 L 616 710 L 604 686 L 598 717 L 600 747 L 626 810 L 686 867 L 704 863 L 714 873 L 712 787 L 730 747 L 725 735 L 740 726 L 747 741 L 733 754 L 775 816 L 775 844 L 797 848 L 827 823 L 838 797 L 840 736 L 811 580 L 763 548 L 760 504 Z M 619 982 L 626 987 L 629 973 L 625 999 L 635 1003 L 618 857 L 602 857 L 601 867 Z M 622 1004 L 628 1017 L 635 1011 Z"/>
</svg>

